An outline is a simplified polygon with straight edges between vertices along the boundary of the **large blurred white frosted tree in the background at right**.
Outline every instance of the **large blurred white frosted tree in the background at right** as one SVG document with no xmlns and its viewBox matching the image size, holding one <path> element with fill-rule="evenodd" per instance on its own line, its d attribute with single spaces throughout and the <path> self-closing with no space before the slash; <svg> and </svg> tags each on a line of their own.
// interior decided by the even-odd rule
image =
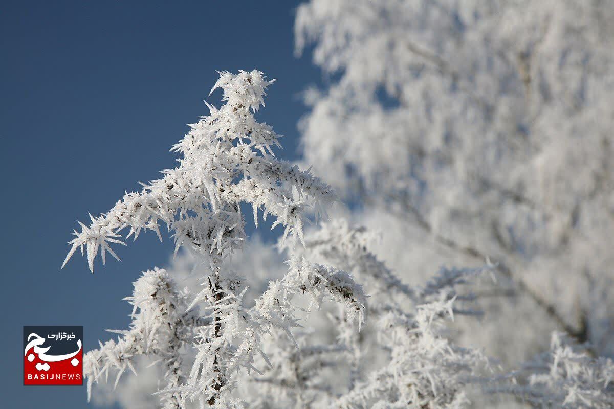
<svg viewBox="0 0 614 409">
<path fill-rule="evenodd" d="M 298 8 L 297 51 L 329 78 L 306 93 L 305 162 L 403 279 L 496 262 L 511 296 L 465 336 L 507 359 L 552 329 L 614 353 L 613 27 L 600 0 Z"/>
</svg>

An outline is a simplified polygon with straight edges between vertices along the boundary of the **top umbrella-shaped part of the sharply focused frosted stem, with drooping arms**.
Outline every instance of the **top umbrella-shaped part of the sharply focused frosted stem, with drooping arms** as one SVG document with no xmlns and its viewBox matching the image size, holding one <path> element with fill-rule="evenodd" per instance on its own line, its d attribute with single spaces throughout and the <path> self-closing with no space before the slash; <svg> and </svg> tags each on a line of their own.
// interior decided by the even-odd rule
<svg viewBox="0 0 614 409">
<path fill-rule="evenodd" d="M 210 115 L 190 125 L 173 147 L 184 156 L 179 167 L 163 170 L 163 178 L 126 194 L 109 212 L 90 216 L 89 226 L 80 223 L 64 264 L 79 248 L 93 272 L 99 252 L 103 264 L 107 252 L 117 258 L 111 244 L 125 244 L 120 231 L 128 228 L 126 239 L 136 239 L 152 230 L 161 240 L 160 222 L 174 232 L 176 249 L 185 244 L 219 261 L 245 239 L 240 202 L 252 204 L 254 213 L 263 208 L 264 217 L 271 213 L 275 224 L 285 227 L 284 237 L 296 232 L 300 239 L 303 209 L 313 204 L 321 214 L 335 194 L 318 178 L 274 157 L 278 135 L 253 116 L 271 83 L 259 71 L 220 73 L 211 91 L 222 88 L 226 104 L 219 110 L 208 105 Z"/>
</svg>

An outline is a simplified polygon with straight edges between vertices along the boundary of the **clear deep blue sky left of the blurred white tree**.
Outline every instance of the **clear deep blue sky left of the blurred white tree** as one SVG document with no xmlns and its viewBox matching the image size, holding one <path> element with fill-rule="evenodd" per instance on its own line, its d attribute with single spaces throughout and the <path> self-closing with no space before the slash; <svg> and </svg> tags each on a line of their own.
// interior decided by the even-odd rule
<svg viewBox="0 0 614 409">
<path fill-rule="evenodd" d="M 216 69 L 278 78 L 258 118 L 297 157 L 297 94 L 319 82 L 293 57 L 293 1 L 4 2 L 0 11 L 2 286 L 0 406 L 88 407 L 85 386 L 22 386 L 23 325 L 84 325 L 85 350 L 128 324 L 121 301 L 172 240 L 145 235 L 96 273 L 60 272 L 75 220 L 174 167 L 169 148 L 208 113 Z M 219 105 L 219 93 L 208 98 Z"/>
</svg>

